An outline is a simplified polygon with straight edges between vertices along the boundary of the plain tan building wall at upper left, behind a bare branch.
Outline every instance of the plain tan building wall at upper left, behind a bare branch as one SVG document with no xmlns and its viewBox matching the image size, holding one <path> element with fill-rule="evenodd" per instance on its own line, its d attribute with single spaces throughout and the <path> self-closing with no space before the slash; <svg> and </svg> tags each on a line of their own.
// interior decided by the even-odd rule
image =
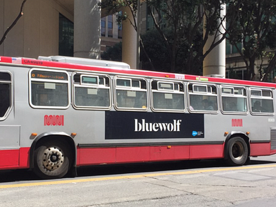
<svg viewBox="0 0 276 207">
<path fill-rule="evenodd" d="M 0 37 L 19 14 L 21 0 L 0 1 Z M 33 57 L 59 55 L 59 19 L 74 21 L 73 10 L 58 1 L 28 0 L 23 16 L 0 46 L 0 55 Z"/>
</svg>

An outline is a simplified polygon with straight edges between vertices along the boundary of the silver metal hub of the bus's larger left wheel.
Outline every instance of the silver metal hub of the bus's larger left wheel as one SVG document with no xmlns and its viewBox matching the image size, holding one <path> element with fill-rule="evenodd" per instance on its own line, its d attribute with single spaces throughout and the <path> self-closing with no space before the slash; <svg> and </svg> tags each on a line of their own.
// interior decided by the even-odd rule
<svg viewBox="0 0 276 207">
<path fill-rule="evenodd" d="M 58 148 L 47 148 L 43 152 L 43 166 L 47 170 L 56 170 L 60 168 L 63 164 L 63 160 L 63 153 Z"/>
</svg>

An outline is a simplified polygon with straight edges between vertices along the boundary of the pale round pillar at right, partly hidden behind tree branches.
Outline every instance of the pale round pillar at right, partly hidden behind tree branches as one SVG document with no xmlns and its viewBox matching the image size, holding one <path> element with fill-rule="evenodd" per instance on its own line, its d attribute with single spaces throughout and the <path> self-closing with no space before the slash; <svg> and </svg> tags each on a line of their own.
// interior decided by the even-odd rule
<svg viewBox="0 0 276 207">
<path fill-rule="evenodd" d="M 226 5 L 222 5 L 224 9 L 221 10 L 221 17 L 226 15 Z M 219 20 L 218 20 L 219 21 Z M 219 30 L 223 33 L 224 28 L 226 26 L 226 21 L 223 22 L 223 26 L 219 28 Z M 204 30 L 205 34 L 205 30 Z M 213 43 L 215 36 L 208 37 L 208 40 L 204 46 L 204 53 L 210 48 Z M 221 35 L 218 35 L 217 40 L 221 38 Z M 226 40 L 219 43 L 204 59 L 203 62 L 203 75 L 208 76 L 218 76 L 225 78 L 226 72 Z"/>
</svg>

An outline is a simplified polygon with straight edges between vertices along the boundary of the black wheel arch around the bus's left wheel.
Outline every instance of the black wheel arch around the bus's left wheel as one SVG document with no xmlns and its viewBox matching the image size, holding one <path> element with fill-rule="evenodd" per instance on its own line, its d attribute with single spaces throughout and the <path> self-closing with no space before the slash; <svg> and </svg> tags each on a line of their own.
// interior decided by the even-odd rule
<svg viewBox="0 0 276 207">
<path fill-rule="evenodd" d="M 64 141 L 70 146 L 70 151 L 72 152 L 72 166 L 76 166 L 76 147 L 75 147 L 75 141 L 72 139 L 70 136 L 66 135 L 45 135 L 41 137 L 37 137 L 37 139 L 34 139 L 32 142 L 32 146 L 30 148 L 30 168 L 34 168 L 34 150 L 40 146 L 41 144 L 45 143 L 46 141 L 50 140 L 59 140 L 59 141 Z"/>
</svg>

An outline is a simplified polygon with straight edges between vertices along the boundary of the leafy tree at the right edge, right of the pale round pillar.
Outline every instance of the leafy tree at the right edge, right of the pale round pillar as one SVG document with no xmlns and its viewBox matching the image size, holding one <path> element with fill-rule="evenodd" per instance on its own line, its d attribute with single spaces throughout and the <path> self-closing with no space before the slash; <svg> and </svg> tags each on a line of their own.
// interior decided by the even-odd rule
<svg viewBox="0 0 276 207">
<path fill-rule="evenodd" d="M 267 81 L 268 75 L 275 68 L 276 42 L 276 1 L 275 0 L 246 0 L 238 10 L 237 23 L 230 29 L 228 40 L 237 48 L 246 64 L 247 79 L 255 79 L 255 62 L 260 60 L 258 68 L 260 79 Z M 242 43 L 242 48 L 239 47 Z M 264 68 L 264 58 L 269 63 Z"/>
</svg>

